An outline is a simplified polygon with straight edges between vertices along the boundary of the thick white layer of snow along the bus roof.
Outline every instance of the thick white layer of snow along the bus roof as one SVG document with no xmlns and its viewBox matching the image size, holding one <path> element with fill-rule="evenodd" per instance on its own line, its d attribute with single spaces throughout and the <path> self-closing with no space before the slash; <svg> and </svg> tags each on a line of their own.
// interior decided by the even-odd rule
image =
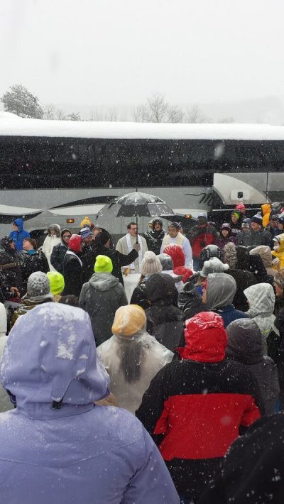
<svg viewBox="0 0 284 504">
<path fill-rule="evenodd" d="M 118 139 L 284 140 L 284 126 L 268 124 L 155 124 L 95 121 L 45 121 L 0 116 L 0 136 Z"/>
</svg>

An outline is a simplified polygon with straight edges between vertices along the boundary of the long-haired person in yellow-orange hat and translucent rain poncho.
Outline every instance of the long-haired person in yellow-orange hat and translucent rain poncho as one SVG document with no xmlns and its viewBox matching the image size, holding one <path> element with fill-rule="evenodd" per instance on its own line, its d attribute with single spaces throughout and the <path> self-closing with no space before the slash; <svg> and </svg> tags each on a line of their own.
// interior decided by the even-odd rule
<svg viewBox="0 0 284 504">
<path fill-rule="evenodd" d="M 114 336 L 97 348 L 118 405 L 134 413 L 152 378 L 172 361 L 173 352 L 146 332 L 146 314 L 136 305 L 116 310 Z"/>
</svg>

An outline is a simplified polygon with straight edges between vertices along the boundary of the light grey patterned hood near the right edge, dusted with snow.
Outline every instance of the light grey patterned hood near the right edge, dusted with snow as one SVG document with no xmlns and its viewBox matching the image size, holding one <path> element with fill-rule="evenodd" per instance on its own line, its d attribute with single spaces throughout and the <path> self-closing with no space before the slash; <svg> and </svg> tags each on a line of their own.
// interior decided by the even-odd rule
<svg viewBox="0 0 284 504">
<path fill-rule="evenodd" d="M 258 283 L 244 290 L 244 295 L 249 301 L 249 317 L 257 315 L 271 315 L 274 311 L 275 294 L 269 283 Z"/>
</svg>

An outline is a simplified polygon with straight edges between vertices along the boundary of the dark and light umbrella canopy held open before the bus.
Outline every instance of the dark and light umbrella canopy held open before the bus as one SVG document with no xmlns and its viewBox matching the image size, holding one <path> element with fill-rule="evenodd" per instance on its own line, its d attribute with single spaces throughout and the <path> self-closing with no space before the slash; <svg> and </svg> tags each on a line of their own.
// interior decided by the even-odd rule
<svg viewBox="0 0 284 504">
<path fill-rule="evenodd" d="M 111 214 L 113 217 L 163 217 L 175 215 L 167 203 L 158 196 L 146 192 L 129 192 L 114 199 L 99 211 L 98 217 Z"/>
</svg>

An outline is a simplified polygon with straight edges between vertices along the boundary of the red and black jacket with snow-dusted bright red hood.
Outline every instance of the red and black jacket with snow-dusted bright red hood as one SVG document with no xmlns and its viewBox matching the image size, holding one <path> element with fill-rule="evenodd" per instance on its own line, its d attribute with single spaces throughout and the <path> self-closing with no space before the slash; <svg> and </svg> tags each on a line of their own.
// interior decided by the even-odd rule
<svg viewBox="0 0 284 504">
<path fill-rule="evenodd" d="M 224 360 L 227 336 L 222 318 L 201 312 L 185 325 L 182 360 L 158 372 L 136 415 L 157 442 L 178 492 L 189 497 L 187 485 L 196 461 L 214 459 L 216 469 L 239 428 L 249 427 L 260 411 L 251 373 L 241 363 Z M 198 471 L 194 476 L 202 485 Z M 203 466 L 202 471 L 204 476 Z"/>
</svg>

